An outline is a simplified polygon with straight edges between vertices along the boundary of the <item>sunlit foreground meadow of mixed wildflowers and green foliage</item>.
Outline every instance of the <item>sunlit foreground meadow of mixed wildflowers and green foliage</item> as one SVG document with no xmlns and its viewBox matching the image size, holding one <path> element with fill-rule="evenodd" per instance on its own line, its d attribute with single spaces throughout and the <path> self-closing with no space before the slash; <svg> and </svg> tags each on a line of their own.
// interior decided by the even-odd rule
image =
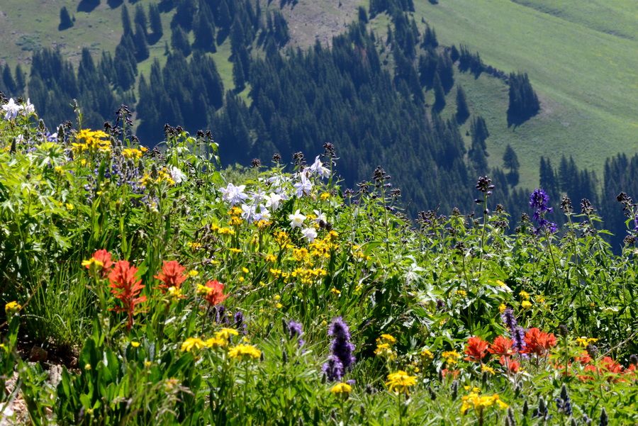
<svg viewBox="0 0 638 426">
<path fill-rule="evenodd" d="M 3 425 L 638 423 L 631 194 L 616 255 L 587 200 L 511 218 L 488 176 L 476 215 L 407 218 L 330 143 L 223 169 L 223 140 L 147 148 L 124 106 L 2 110 Z"/>
</svg>

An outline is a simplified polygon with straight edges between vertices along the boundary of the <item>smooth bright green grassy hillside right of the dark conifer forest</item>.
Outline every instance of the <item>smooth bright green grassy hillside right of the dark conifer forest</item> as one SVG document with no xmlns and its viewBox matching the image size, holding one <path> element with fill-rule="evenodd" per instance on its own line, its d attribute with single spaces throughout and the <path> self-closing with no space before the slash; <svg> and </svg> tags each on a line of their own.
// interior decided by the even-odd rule
<svg viewBox="0 0 638 426">
<path fill-rule="evenodd" d="M 487 120 L 492 164 L 500 164 L 511 143 L 522 160 L 525 183 L 537 179 L 540 155 L 573 155 L 581 167 L 600 172 L 605 157 L 638 151 L 638 21 L 632 2 L 575 5 L 567 0 L 415 1 L 416 16 L 434 26 L 440 43 L 468 45 L 488 65 L 530 74 L 542 112 L 519 128 L 507 127 L 505 86 L 484 76 L 459 79 L 473 111 Z"/>
</svg>

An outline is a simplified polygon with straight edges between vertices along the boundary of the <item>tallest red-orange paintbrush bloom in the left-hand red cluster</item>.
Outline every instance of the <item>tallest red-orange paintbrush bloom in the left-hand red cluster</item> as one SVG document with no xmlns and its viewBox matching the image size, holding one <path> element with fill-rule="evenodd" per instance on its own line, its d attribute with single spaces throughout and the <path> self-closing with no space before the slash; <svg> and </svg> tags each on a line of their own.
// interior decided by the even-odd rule
<svg viewBox="0 0 638 426">
<path fill-rule="evenodd" d="M 144 286 L 141 279 L 135 281 L 137 273 L 138 268 L 131 266 L 126 260 L 119 260 L 113 267 L 111 274 L 108 275 L 108 281 L 111 282 L 111 293 L 122 302 L 122 306 L 116 306 L 113 310 L 128 314 L 128 330 L 133 327 L 135 306 L 146 301 L 146 296 L 139 296 Z"/>
</svg>

